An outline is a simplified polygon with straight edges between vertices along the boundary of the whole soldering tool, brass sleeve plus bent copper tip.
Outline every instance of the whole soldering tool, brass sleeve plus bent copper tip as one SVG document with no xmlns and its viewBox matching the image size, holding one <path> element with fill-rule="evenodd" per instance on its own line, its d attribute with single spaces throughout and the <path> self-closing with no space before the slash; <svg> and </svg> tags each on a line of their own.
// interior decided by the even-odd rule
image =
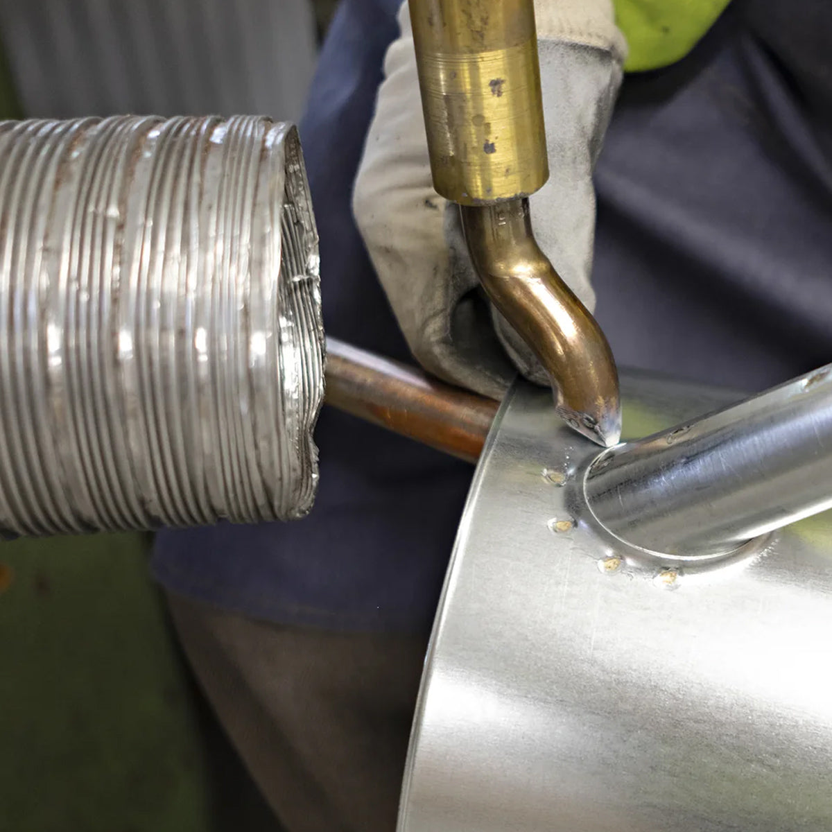
<svg viewBox="0 0 832 832">
<path fill-rule="evenodd" d="M 548 178 L 533 0 L 409 0 L 433 186 L 462 210 L 483 288 L 547 370 L 557 410 L 621 433 L 607 339 L 537 246 L 527 197 Z"/>
</svg>

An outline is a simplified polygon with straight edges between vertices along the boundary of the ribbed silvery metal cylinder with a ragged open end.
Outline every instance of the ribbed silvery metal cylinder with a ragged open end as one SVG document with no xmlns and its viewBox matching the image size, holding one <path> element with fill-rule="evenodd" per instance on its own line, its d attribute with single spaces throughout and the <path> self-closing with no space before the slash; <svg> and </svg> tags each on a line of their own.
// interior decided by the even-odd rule
<svg viewBox="0 0 832 832">
<path fill-rule="evenodd" d="M 295 128 L 0 123 L 0 531 L 291 519 L 317 483 Z"/>
</svg>

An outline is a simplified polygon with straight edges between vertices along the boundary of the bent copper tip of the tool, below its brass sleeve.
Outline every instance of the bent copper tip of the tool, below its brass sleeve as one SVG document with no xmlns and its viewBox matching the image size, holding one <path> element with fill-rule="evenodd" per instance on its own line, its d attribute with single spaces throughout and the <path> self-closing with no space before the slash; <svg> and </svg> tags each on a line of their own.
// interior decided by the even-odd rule
<svg viewBox="0 0 832 832">
<path fill-rule="evenodd" d="M 459 210 L 483 288 L 552 379 L 557 412 L 594 442 L 616 444 L 622 419 L 610 346 L 537 246 L 528 200 Z"/>
</svg>

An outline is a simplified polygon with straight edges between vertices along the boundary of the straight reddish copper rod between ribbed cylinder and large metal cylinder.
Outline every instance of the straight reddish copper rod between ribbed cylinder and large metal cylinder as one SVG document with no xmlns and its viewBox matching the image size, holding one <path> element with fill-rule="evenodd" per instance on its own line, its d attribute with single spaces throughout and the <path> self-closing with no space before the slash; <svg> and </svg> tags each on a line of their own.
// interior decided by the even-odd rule
<svg viewBox="0 0 832 832">
<path fill-rule="evenodd" d="M 475 463 L 499 403 L 364 349 L 326 340 L 325 402 Z"/>
</svg>

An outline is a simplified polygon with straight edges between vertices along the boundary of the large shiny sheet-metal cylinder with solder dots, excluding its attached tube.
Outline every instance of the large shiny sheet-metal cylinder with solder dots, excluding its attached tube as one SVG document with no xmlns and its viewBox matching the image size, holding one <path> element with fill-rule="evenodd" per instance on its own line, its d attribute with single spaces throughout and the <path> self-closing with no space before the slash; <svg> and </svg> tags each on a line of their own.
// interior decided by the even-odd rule
<svg viewBox="0 0 832 832">
<path fill-rule="evenodd" d="M 732 400 L 627 374 L 622 393 L 628 437 Z M 832 520 L 664 559 L 594 521 L 596 456 L 544 392 L 509 394 L 434 626 L 399 832 L 832 828 Z"/>
</svg>

